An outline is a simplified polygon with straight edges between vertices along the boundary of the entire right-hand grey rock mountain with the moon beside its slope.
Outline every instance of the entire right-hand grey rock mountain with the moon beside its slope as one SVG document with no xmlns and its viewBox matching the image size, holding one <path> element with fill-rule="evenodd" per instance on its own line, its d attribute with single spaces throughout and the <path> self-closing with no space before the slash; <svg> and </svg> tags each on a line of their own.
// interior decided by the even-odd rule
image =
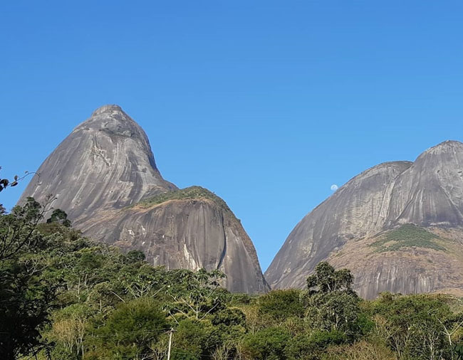
<svg viewBox="0 0 463 360">
<path fill-rule="evenodd" d="M 266 271 L 272 287 L 303 287 L 328 260 L 378 292 L 463 292 L 463 144 L 355 176 L 291 231 Z"/>
</svg>

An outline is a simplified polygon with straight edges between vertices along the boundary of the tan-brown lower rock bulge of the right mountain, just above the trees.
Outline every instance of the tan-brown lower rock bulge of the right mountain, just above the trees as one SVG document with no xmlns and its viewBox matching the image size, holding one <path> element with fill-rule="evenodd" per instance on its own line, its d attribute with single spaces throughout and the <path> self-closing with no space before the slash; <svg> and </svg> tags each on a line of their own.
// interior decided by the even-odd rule
<svg viewBox="0 0 463 360">
<path fill-rule="evenodd" d="M 326 260 L 336 268 L 349 268 L 355 289 L 361 297 L 375 298 L 384 291 L 408 293 L 463 293 L 463 232 L 461 228 L 417 228 L 420 234 L 402 236 L 384 243 L 390 235 L 410 224 L 399 226 L 370 238 L 350 241 Z"/>
</svg>

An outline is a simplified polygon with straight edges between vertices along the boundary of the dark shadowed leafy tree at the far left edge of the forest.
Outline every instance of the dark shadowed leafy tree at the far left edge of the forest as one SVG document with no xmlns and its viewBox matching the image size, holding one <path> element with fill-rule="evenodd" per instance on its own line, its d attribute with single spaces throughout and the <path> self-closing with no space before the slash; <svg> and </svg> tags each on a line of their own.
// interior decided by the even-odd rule
<svg viewBox="0 0 463 360">
<path fill-rule="evenodd" d="M 47 344 L 48 324 L 59 277 L 49 281 L 38 253 L 43 235 L 36 231 L 44 209 L 33 198 L 0 215 L 0 359 L 36 354 Z"/>
</svg>

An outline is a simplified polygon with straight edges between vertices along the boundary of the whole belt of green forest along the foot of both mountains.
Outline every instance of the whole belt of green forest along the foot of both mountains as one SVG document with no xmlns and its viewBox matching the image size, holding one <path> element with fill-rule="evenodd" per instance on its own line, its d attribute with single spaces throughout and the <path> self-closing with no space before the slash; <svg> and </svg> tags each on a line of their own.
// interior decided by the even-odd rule
<svg viewBox="0 0 463 360">
<path fill-rule="evenodd" d="M 153 268 L 94 243 L 33 198 L 0 216 L 0 359 L 461 359 L 462 305 L 444 295 L 365 301 L 348 270 L 306 290 L 231 294 L 217 271 Z M 38 221 L 41 223 L 38 223 Z M 459 357 L 460 356 L 460 357 Z"/>
</svg>

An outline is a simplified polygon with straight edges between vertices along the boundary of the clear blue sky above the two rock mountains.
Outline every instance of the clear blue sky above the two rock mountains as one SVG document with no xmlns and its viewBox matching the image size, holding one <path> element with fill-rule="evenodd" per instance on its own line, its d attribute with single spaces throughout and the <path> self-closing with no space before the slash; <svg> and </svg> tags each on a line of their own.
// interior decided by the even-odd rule
<svg viewBox="0 0 463 360">
<path fill-rule="evenodd" d="M 118 104 L 165 179 L 229 203 L 263 269 L 331 185 L 463 140 L 462 87 L 462 1 L 0 4 L 1 175 Z"/>
</svg>

